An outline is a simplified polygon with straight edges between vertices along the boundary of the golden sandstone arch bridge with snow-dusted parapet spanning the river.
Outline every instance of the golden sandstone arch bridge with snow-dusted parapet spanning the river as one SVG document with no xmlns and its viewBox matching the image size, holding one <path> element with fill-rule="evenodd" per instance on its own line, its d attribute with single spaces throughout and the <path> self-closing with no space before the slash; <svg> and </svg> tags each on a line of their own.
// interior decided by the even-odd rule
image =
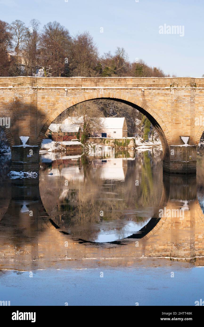
<svg viewBox="0 0 204 327">
<path fill-rule="evenodd" d="M 204 78 L 191 77 L 0 77 L 0 124 L 11 146 L 12 169 L 38 171 L 39 147 L 53 120 L 75 104 L 100 98 L 148 117 L 162 143 L 165 172 L 195 173 L 204 131 Z M 29 137 L 27 146 L 20 136 Z"/>
</svg>

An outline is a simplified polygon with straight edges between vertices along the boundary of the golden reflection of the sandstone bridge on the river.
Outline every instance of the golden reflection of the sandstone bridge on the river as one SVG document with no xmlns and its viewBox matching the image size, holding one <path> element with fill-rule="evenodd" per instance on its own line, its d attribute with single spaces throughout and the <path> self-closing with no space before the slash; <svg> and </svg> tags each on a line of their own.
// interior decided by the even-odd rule
<svg viewBox="0 0 204 327">
<path fill-rule="evenodd" d="M 55 225 L 42 204 L 38 183 L 14 181 L 8 210 L 0 221 L 0 268 L 93 267 L 101 262 L 127 266 L 142 257 L 204 265 L 204 215 L 194 185 L 193 176 L 187 181 L 164 175 L 159 208 L 184 207 L 184 219 L 158 219 L 157 211 L 138 238 L 96 244 L 67 235 Z"/>
</svg>

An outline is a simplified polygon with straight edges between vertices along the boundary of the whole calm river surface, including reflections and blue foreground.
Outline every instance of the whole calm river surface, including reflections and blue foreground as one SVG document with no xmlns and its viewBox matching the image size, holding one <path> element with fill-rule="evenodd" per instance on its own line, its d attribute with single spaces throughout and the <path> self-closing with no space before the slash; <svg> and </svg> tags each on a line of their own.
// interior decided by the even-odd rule
<svg viewBox="0 0 204 327">
<path fill-rule="evenodd" d="M 162 153 L 155 149 L 92 157 L 43 153 L 39 180 L 10 180 L 9 163 L 9 156 L 1 156 L 0 294 L 8 295 L 13 305 L 16 299 L 45 305 L 46 290 L 49 305 L 64 305 L 53 288 L 46 287 L 56 278 L 59 294 L 63 289 L 67 297 L 72 294 L 73 305 L 102 305 L 93 300 L 97 292 L 109 305 L 134 305 L 135 278 L 141 305 L 154 305 L 155 297 L 155 305 L 194 305 L 196 296 L 204 298 L 203 158 L 198 158 L 197 176 L 163 174 Z M 184 216 L 160 218 L 164 208 L 182 208 Z M 103 271 L 112 296 L 97 284 L 104 282 Z M 70 284 L 64 288 L 66 276 Z M 177 301 L 172 290 L 182 292 L 188 279 L 192 285 Z M 117 283 L 127 301 L 117 300 Z M 25 292 L 17 287 L 21 284 Z M 92 300 L 85 300 L 90 291 Z"/>
</svg>

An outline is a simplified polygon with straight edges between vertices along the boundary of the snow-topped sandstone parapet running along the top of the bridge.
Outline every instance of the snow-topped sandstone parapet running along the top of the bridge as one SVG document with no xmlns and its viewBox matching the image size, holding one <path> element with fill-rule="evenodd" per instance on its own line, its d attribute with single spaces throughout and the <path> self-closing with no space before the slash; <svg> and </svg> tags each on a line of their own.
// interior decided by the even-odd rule
<svg viewBox="0 0 204 327">
<path fill-rule="evenodd" d="M 0 77 L 0 88 L 204 88 L 204 78 L 194 77 Z"/>
</svg>

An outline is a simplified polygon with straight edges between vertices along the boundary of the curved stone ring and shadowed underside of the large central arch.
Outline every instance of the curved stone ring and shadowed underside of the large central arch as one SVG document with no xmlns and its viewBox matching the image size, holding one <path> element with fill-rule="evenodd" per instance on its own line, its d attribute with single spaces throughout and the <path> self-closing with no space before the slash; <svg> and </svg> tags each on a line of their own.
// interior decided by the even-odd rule
<svg viewBox="0 0 204 327">
<path fill-rule="evenodd" d="M 91 94 L 85 94 L 79 97 L 73 97 L 71 99 L 69 98 L 66 104 L 63 104 L 60 108 L 55 110 L 51 115 L 49 114 L 46 115 L 44 121 L 42 122 L 41 129 L 38 135 L 38 139 L 37 139 L 38 145 L 39 146 L 41 145 L 46 130 L 49 128 L 50 124 L 66 109 L 85 101 L 97 100 L 102 98 L 123 102 L 139 110 L 139 112 L 143 113 L 144 115 L 146 115 L 158 132 L 162 144 L 162 149 L 163 149 L 163 159 L 169 158 L 169 145 L 171 142 L 171 135 L 169 130 L 167 129 L 166 124 L 158 116 L 158 114 L 152 108 L 150 108 L 146 103 L 136 99 L 133 96 L 125 95 L 122 93 L 105 92 L 104 90 L 100 90 L 100 92 L 93 92 Z"/>
</svg>

